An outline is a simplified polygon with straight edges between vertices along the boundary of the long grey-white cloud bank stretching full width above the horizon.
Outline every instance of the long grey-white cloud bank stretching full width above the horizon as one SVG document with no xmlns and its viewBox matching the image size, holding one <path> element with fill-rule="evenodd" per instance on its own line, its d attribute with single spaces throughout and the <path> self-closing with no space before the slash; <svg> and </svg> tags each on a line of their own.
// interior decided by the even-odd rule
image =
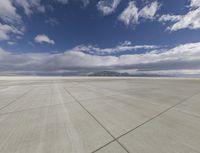
<svg viewBox="0 0 200 153">
<path fill-rule="evenodd" d="M 14 54 L 0 49 L 0 72 L 89 72 L 97 70 L 136 70 L 138 72 L 200 70 L 200 42 L 182 44 L 164 52 L 120 56 L 91 55 L 76 48 L 63 53 Z"/>
</svg>

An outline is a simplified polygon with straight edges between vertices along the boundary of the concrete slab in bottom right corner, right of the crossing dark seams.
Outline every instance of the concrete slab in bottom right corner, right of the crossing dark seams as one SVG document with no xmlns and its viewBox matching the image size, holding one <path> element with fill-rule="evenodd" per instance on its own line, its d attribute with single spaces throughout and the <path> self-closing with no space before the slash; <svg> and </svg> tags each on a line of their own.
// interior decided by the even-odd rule
<svg viewBox="0 0 200 153">
<path fill-rule="evenodd" d="M 169 111 L 119 141 L 130 153 L 199 153 L 200 118 Z"/>
</svg>

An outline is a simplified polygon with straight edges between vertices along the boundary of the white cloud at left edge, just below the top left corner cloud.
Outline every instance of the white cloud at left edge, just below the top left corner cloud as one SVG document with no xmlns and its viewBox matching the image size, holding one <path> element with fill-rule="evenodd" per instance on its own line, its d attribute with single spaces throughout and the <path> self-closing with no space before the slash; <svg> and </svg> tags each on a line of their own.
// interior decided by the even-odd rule
<svg viewBox="0 0 200 153">
<path fill-rule="evenodd" d="M 1 40 L 9 40 L 10 34 L 23 35 L 23 32 L 13 26 L 0 23 L 0 41 Z"/>
</svg>

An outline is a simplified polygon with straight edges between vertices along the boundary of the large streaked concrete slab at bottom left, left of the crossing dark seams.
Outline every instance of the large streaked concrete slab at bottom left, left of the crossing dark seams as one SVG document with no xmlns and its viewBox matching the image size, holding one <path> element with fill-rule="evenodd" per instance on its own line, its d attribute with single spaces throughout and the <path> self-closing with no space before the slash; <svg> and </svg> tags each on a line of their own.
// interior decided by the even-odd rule
<svg viewBox="0 0 200 153">
<path fill-rule="evenodd" d="M 111 140 L 79 104 L 0 116 L 1 153 L 88 153 Z"/>
</svg>

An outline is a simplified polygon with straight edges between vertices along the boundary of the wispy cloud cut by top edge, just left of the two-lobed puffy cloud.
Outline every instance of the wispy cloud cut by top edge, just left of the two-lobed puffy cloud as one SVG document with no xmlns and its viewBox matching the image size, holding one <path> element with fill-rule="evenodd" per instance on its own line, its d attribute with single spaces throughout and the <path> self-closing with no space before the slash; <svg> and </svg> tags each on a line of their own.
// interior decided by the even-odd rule
<svg viewBox="0 0 200 153">
<path fill-rule="evenodd" d="M 100 0 L 97 4 L 97 8 L 103 15 L 109 15 L 115 12 L 120 2 L 121 0 Z"/>
</svg>

